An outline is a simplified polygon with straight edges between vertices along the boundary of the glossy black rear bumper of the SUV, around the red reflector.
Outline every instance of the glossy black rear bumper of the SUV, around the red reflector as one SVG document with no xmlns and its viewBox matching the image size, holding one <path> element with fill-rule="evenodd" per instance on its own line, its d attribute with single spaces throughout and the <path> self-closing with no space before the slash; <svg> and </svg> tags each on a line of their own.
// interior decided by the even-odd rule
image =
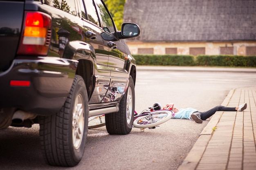
<svg viewBox="0 0 256 170">
<path fill-rule="evenodd" d="M 39 115 L 61 109 L 70 92 L 77 61 L 58 57 L 15 59 L 0 73 L 0 108 L 15 107 Z M 27 81 L 29 85 L 10 85 Z"/>
</svg>

